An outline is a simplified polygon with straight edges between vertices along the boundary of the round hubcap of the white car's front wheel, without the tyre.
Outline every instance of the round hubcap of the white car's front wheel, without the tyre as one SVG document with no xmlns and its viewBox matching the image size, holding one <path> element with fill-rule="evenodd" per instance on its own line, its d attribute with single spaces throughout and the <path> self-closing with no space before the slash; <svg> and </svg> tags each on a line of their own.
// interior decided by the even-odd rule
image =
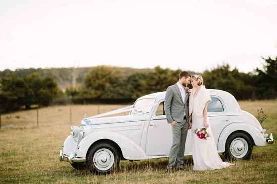
<svg viewBox="0 0 277 184">
<path fill-rule="evenodd" d="M 109 149 L 99 149 L 93 155 L 93 163 L 99 170 L 108 170 L 114 164 L 114 155 Z"/>
</svg>

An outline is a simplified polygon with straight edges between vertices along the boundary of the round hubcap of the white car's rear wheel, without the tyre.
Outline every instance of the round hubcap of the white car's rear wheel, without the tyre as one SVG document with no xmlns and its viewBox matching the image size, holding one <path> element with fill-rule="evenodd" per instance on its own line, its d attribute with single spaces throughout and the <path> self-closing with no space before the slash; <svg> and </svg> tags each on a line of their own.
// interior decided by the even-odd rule
<svg viewBox="0 0 277 184">
<path fill-rule="evenodd" d="M 243 158 L 248 151 L 248 143 L 244 138 L 235 138 L 230 144 L 231 154 L 235 158 Z"/>
</svg>

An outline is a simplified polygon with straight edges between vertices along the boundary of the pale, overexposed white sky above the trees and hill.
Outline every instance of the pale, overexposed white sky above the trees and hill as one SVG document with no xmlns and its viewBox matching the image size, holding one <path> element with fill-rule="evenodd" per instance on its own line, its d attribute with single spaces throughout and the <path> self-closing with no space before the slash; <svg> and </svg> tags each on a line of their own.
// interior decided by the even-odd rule
<svg viewBox="0 0 277 184">
<path fill-rule="evenodd" d="M 251 72 L 277 56 L 276 33 L 277 0 L 0 0 L 0 70 Z"/>
</svg>

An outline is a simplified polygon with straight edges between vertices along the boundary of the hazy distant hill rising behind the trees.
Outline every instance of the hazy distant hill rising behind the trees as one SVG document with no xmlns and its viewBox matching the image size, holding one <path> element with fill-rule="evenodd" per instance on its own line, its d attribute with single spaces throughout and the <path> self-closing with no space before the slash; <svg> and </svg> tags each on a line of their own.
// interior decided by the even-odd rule
<svg viewBox="0 0 277 184">
<path fill-rule="evenodd" d="M 122 73 L 124 77 L 132 75 L 134 73 L 144 73 L 150 72 L 154 69 L 144 68 L 129 68 L 129 67 L 111 67 L 116 71 Z M 23 77 L 25 75 L 31 73 L 38 73 L 40 77 L 52 77 L 58 84 L 59 88 L 64 92 L 66 88 L 70 86 L 80 87 L 83 83 L 83 80 L 86 74 L 93 69 L 94 67 L 80 67 L 80 68 L 28 68 L 28 69 L 16 69 L 15 71 L 11 71 L 6 69 L 4 71 L 0 71 L 0 77 L 7 77 L 9 75 L 16 75 L 18 77 Z"/>
</svg>

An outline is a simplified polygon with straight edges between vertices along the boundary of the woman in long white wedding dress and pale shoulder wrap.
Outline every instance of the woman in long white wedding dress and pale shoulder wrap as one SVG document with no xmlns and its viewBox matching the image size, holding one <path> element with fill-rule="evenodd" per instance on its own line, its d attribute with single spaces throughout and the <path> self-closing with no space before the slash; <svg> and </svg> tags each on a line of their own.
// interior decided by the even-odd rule
<svg viewBox="0 0 277 184">
<path fill-rule="evenodd" d="M 192 128 L 192 158 L 193 170 L 215 170 L 233 165 L 223 162 L 218 155 L 217 147 L 213 138 L 209 119 L 207 117 L 207 104 L 211 97 L 203 85 L 203 78 L 200 75 L 193 75 L 191 78 L 193 91 L 189 97 L 189 122 Z M 206 128 L 209 133 L 207 139 L 200 139 L 194 130 Z"/>
</svg>

